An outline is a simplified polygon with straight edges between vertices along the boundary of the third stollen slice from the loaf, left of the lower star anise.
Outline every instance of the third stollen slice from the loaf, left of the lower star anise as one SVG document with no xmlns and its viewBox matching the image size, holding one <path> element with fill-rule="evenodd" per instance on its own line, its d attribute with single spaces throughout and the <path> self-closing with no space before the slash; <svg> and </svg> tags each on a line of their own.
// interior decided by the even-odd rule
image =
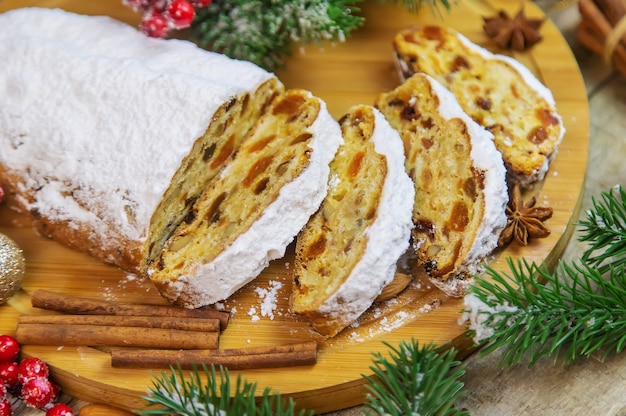
<svg viewBox="0 0 626 416">
<path fill-rule="evenodd" d="M 425 74 L 381 94 L 376 106 L 400 132 L 415 184 L 418 271 L 462 295 L 506 225 L 506 171 L 493 136 Z"/>
</svg>

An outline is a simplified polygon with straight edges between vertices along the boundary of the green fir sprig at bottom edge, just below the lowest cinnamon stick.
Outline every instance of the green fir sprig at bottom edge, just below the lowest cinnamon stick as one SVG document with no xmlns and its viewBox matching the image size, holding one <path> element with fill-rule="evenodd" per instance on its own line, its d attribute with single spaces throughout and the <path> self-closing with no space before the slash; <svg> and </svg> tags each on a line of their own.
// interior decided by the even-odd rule
<svg viewBox="0 0 626 416">
<path fill-rule="evenodd" d="M 304 410 L 296 413 L 295 403 L 291 398 L 284 401 L 279 393 L 271 393 L 265 388 L 257 404 L 255 393 L 256 383 L 249 383 L 237 376 L 235 392 L 231 393 L 230 374 L 226 368 L 220 367 L 221 381 L 218 383 L 215 366 L 197 367 L 185 380 L 180 366 L 170 368 L 171 374 L 161 373 L 160 378 L 153 380 L 148 396 L 144 399 L 151 409 L 139 410 L 145 416 L 179 415 L 179 416 L 304 416 Z"/>
</svg>

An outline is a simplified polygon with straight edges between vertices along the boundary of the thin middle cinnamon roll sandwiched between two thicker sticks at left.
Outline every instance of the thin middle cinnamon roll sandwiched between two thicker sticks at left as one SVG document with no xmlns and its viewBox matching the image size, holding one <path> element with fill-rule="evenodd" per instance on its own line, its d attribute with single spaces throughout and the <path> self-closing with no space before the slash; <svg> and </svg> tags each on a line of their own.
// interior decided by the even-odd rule
<svg viewBox="0 0 626 416">
<path fill-rule="evenodd" d="M 17 318 L 17 324 L 126 326 L 203 332 L 220 330 L 219 319 L 181 319 L 171 316 L 23 315 Z"/>
</svg>

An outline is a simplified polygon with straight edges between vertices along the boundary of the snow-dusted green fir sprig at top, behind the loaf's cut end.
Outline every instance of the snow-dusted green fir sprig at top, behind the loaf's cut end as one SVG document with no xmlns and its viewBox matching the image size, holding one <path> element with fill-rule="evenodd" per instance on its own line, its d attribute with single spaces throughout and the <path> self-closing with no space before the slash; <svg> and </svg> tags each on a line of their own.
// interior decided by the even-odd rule
<svg viewBox="0 0 626 416">
<path fill-rule="evenodd" d="M 216 0 L 191 26 L 202 47 L 266 69 L 282 65 L 294 43 L 341 42 L 360 27 L 360 0 Z"/>
</svg>

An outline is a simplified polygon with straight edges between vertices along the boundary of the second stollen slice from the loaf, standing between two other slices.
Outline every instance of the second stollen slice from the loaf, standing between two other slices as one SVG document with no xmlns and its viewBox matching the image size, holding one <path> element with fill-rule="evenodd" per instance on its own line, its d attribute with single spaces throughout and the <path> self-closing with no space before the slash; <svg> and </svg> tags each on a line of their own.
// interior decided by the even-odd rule
<svg viewBox="0 0 626 416">
<path fill-rule="evenodd" d="M 325 336 L 354 322 L 393 279 L 412 228 L 414 189 L 397 131 L 365 105 L 340 125 L 328 195 L 298 235 L 291 296 L 292 311 Z"/>
</svg>

